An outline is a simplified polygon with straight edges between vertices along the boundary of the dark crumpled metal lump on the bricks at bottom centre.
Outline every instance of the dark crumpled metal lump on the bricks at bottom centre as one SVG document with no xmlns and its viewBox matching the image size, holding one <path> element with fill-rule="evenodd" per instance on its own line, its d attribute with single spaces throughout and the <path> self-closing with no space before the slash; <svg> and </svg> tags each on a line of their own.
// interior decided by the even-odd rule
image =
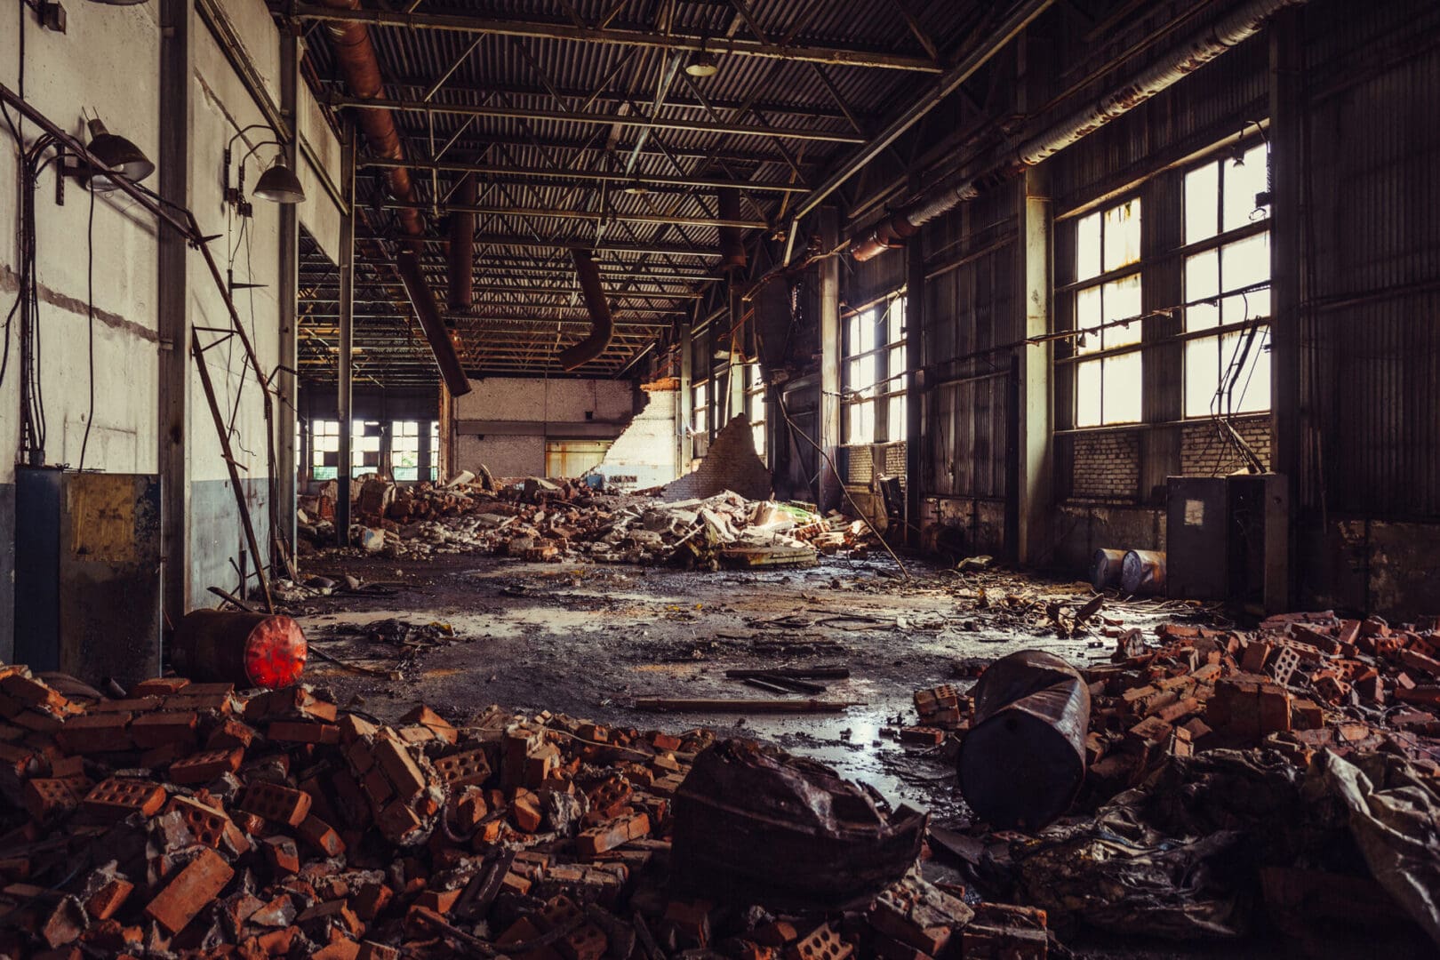
<svg viewBox="0 0 1440 960">
<path fill-rule="evenodd" d="M 675 793 L 671 875 L 703 892 L 838 908 L 903 877 L 926 820 L 906 807 L 890 813 L 814 760 L 724 740 L 696 757 Z"/>
</svg>

